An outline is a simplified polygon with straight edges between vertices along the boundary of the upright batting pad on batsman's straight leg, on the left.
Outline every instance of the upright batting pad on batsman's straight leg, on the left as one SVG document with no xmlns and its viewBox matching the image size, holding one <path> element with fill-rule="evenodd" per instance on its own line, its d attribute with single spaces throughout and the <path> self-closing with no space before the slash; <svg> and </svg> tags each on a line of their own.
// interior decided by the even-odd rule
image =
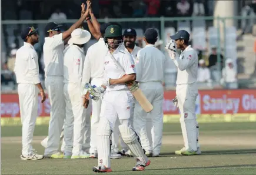
<svg viewBox="0 0 256 175">
<path fill-rule="evenodd" d="M 111 127 L 108 119 L 100 117 L 97 129 L 98 164 L 110 168 Z"/>
</svg>

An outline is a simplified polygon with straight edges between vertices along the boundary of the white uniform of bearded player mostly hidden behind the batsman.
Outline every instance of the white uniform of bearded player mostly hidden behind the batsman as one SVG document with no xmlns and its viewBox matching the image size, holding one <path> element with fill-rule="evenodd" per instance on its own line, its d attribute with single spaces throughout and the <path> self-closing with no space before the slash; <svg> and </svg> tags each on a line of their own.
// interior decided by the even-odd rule
<svg viewBox="0 0 256 175">
<path fill-rule="evenodd" d="M 124 51 L 128 51 L 127 48 L 125 48 L 125 45 L 124 43 L 121 45 L 121 49 L 123 49 Z M 134 46 L 134 49 L 132 50 L 132 52 L 130 53 L 131 56 L 132 56 L 132 59 L 134 60 L 134 63 L 136 61 L 136 57 L 138 55 L 138 52 L 141 50 L 141 48 L 139 48 L 138 46 Z M 133 126 L 133 119 L 134 119 L 134 103 L 132 103 L 132 106 L 131 106 L 131 124 Z M 119 120 L 117 120 L 117 122 L 115 123 L 115 129 L 114 129 L 114 134 L 112 134 L 112 146 L 111 146 L 111 149 L 113 149 L 113 152 L 117 152 L 118 151 L 118 140 L 119 140 L 119 136 L 120 136 L 120 132 L 118 130 L 118 126 L 120 125 L 120 122 Z M 115 134 L 115 130 L 118 130 L 118 133 Z M 120 145 L 122 147 L 122 149 L 125 150 L 125 152 L 127 152 L 128 150 L 128 147 L 127 145 L 124 143 L 124 140 L 120 139 Z"/>
</svg>

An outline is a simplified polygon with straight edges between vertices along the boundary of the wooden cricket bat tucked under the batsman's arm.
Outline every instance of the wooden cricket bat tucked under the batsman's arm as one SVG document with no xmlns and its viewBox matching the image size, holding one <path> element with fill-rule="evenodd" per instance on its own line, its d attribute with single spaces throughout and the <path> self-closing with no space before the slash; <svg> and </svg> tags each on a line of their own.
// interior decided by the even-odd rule
<svg viewBox="0 0 256 175">
<path fill-rule="evenodd" d="M 110 57 L 114 61 L 115 65 L 117 65 L 120 69 L 124 70 L 124 68 L 122 68 L 122 66 L 117 62 L 117 60 L 114 58 L 112 54 L 110 54 Z M 153 109 L 153 106 L 148 101 L 147 97 L 145 97 L 141 89 L 139 89 L 139 86 L 137 85 L 137 83 L 132 82 L 132 83 L 127 83 L 126 85 L 128 89 L 131 91 L 132 95 L 135 97 L 135 99 L 139 102 L 139 105 L 141 105 L 142 109 L 145 110 L 145 112 L 151 112 L 151 110 Z"/>
</svg>

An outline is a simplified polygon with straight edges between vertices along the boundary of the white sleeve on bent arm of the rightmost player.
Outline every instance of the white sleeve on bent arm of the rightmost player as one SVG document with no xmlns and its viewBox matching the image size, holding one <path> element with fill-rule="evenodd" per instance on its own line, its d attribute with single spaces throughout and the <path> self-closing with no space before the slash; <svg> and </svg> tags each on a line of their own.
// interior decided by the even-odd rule
<svg viewBox="0 0 256 175">
<path fill-rule="evenodd" d="M 189 68 L 197 60 L 197 55 L 194 52 L 187 52 L 183 59 L 175 58 L 174 63 L 179 70 L 183 71 Z"/>
</svg>

